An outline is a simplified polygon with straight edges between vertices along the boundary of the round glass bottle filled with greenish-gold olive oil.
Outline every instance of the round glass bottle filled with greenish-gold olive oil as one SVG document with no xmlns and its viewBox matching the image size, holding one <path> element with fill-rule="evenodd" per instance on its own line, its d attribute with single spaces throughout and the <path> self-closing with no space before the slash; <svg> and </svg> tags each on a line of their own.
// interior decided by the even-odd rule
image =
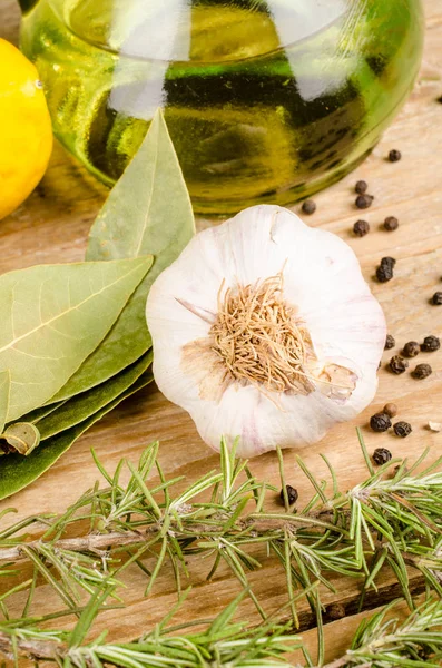
<svg viewBox="0 0 442 668">
<path fill-rule="evenodd" d="M 419 0 L 38 0 L 21 33 L 90 171 L 115 183 L 161 106 L 210 214 L 352 169 L 406 99 L 422 38 Z"/>
</svg>

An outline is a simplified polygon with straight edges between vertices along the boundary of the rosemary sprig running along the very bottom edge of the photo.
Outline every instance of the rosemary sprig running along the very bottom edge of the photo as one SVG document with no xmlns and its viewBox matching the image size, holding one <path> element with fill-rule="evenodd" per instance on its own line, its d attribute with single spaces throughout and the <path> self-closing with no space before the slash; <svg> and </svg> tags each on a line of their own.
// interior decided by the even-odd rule
<svg viewBox="0 0 442 668">
<path fill-rule="evenodd" d="M 29 658 L 36 666 L 55 662 L 63 668 L 301 668 L 288 662 L 296 650 L 304 651 L 302 638 L 289 625 L 263 622 L 248 627 L 233 617 L 244 595 L 234 600 L 214 621 L 168 627 L 173 610 L 154 630 L 132 642 L 106 642 L 105 635 L 85 642 L 106 589 L 98 590 L 71 631 L 0 625 L 0 655 L 18 665 Z M 426 600 L 407 619 L 392 617 L 397 601 L 363 620 L 351 648 L 324 668 L 436 668 L 442 659 L 442 601 Z M 191 630 L 197 627 L 199 630 Z M 322 665 L 322 664 L 321 664 Z"/>
</svg>

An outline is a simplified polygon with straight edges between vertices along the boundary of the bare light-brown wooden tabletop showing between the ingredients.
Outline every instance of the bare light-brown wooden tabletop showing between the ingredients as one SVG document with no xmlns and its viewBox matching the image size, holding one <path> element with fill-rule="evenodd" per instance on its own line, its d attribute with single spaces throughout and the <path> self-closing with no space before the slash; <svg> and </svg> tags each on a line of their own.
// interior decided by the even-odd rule
<svg viewBox="0 0 442 668">
<path fill-rule="evenodd" d="M 442 6 L 440 0 L 424 0 L 424 4 L 426 46 L 413 95 L 357 171 L 316 197 L 317 213 L 308 219 L 314 226 L 338 234 L 357 253 L 364 275 L 385 310 L 397 346 L 411 340 L 422 341 L 428 334 L 442 335 L 442 307 L 429 304 L 431 295 L 442 287 L 442 104 L 436 101 L 442 95 Z M 16 1 L 2 0 L 0 37 L 17 42 L 18 26 Z M 391 148 L 402 151 L 402 161 L 391 164 L 385 159 Z M 353 205 L 354 184 L 358 178 L 370 183 L 370 191 L 376 197 L 374 206 L 364 215 L 372 232 L 362 239 L 351 232 L 358 217 Z M 0 225 L 1 272 L 40 263 L 82 259 L 89 227 L 105 196 L 105 188 L 56 146 L 41 186 Z M 397 216 L 401 222 L 395 233 L 381 228 L 389 215 Z M 372 277 L 384 255 L 397 258 L 397 265 L 394 281 L 382 285 L 374 283 Z M 390 354 L 385 353 L 384 362 Z M 318 477 L 327 479 L 320 458 L 324 452 L 338 471 L 342 489 L 360 482 L 365 477 L 365 465 L 356 440 L 356 425 L 363 425 L 371 452 L 374 448 L 386 446 L 395 456 L 415 458 L 429 446 L 434 455 L 441 454 L 442 433 L 430 432 L 426 424 L 429 420 L 442 421 L 442 352 L 420 357 L 421 362 L 430 360 L 435 373 L 423 382 L 413 380 L 410 374 L 394 376 L 384 364 L 374 404 L 354 423 L 337 426 L 316 446 L 304 451 L 302 455 L 307 465 Z M 386 401 L 395 401 L 400 418 L 413 425 L 413 434 L 406 441 L 390 433 L 374 434 L 366 429 L 370 415 Z M 16 507 L 19 517 L 61 511 L 97 479 L 91 446 L 112 469 L 121 458 L 135 461 L 143 448 L 156 439 L 161 442 L 160 462 L 169 477 L 185 475 L 188 482 L 218 464 L 217 455 L 202 443 L 187 414 L 168 403 L 155 389 L 148 389 L 88 432 L 39 481 L 9 500 L 8 505 Z M 294 452 L 285 453 L 285 462 L 288 481 L 296 484 L 302 499 L 306 499 L 311 489 L 295 464 Z M 277 484 L 274 453 L 253 461 L 252 469 L 262 479 Z M 181 621 L 215 616 L 239 591 L 239 584 L 227 571 L 207 583 L 207 564 L 198 562 L 197 558 L 193 559 L 190 570 L 193 591 L 180 613 Z M 264 557 L 264 568 L 251 574 L 251 582 L 267 611 L 285 603 L 285 580 L 275 560 Z M 97 623 L 97 630 L 108 628 L 112 639 L 134 638 L 150 628 L 176 600 L 169 568 L 163 571 L 149 599 L 143 597 L 145 581 L 139 571 L 128 573 L 126 583 L 127 612 L 109 610 Z M 386 577 L 381 597 L 372 601 L 373 606 L 391 595 L 390 584 Z M 336 588 L 338 593 L 326 595 L 325 600 L 342 601 L 351 611 L 357 583 L 340 578 Z M 41 610 L 53 603 L 48 587 L 39 587 L 37 601 Z M 256 620 L 253 606 L 247 601 L 243 605 L 242 616 Z M 327 659 L 336 657 L 347 646 L 358 620 L 360 616 L 347 615 L 344 620 L 327 625 Z M 306 638 L 311 635 L 308 631 Z"/>
</svg>

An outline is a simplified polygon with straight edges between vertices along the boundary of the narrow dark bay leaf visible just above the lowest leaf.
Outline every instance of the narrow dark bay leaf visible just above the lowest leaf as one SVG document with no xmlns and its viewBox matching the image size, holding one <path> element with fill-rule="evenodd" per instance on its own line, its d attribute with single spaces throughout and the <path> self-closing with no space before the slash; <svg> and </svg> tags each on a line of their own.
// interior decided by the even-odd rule
<svg viewBox="0 0 442 668">
<path fill-rule="evenodd" d="M 37 420 L 41 440 L 66 431 L 104 409 L 126 392 L 145 373 L 151 364 L 151 352 L 146 353 L 140 360 L 109 379 L 106 383 L 101 383 L 88 392 L 77 394 L 77 396 L 63 402 L 49 415 Z"/>
</svg>

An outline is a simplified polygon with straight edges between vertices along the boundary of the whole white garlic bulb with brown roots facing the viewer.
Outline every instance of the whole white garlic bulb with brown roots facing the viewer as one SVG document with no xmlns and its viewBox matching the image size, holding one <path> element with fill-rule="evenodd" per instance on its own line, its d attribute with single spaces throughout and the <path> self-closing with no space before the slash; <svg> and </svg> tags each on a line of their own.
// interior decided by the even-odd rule
<svg viewBox="0 0 442 668">
<path fill-rule="evenodd" d="M 385 318 L 356 256 L 277 206 L 197 234 L 146 316 L 158 387 L 215 449 L 315 443 L 376 391 Z"/>
</svg>

